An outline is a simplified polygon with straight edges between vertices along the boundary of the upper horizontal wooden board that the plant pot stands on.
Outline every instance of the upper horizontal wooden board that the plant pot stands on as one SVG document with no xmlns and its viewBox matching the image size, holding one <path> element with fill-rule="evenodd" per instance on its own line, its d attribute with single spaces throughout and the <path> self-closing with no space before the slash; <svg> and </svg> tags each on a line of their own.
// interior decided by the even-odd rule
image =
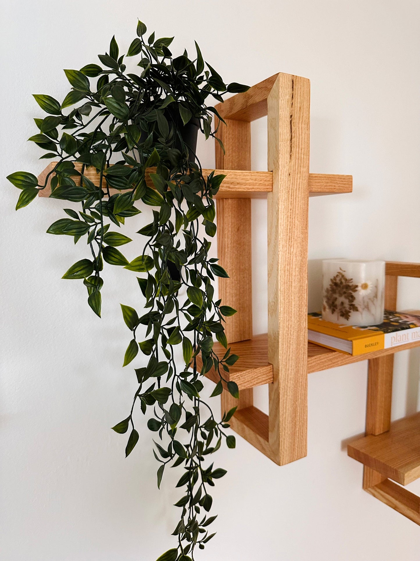
<svg viewBox="0 0 420 561">
<path fill-rule="evenodd" d="M 53 169 L 57 162 L 51 162 L 38 176 L 39 183 L 44 183 L 45 178 Z M 82 164 L 76 163 L 77 171 L 81 171 Z M 148 168 L 148 173 L 156 172 L 156 168 Z M 273 173 L 272 172 L 251 172 L 231 169 L 203 169 L 203 176 L 207 177 L 212 171 L 215 175 L 226 175 L 220 189 L 215 195 L 215 199 L 260 199 L 267 197 L 267 194 L 273 190 Z M 150 177 L 146 174 L 146 183 L 153 188 Z M 94 167 L 85 168 L 85 176 L 99 186 L 99 174 L 96 173 Z M 42 191 L 39 192 L 40 197 L 49 197 L 51 194 L 50 180 Z M 76 177 L 75 177 L 76 180 Z M 102 184 L 105 185 L 104 180 Z M 309 192 L 313 195 L 328 195 L 334 193 L 350 193 L 352 191 L 352 176 L 334 175 L 324 173 L 309 174 Z M 110 189 L 111 195 L 120 191 Z"/>
</svg>

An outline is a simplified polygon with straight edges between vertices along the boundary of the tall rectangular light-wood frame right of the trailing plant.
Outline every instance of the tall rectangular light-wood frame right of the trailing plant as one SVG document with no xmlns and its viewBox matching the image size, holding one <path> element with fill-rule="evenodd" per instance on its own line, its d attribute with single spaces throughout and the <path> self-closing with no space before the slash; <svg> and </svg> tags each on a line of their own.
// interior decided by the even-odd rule
<svg viewBox="0 0 420 561">
<path fill-rule="evenodd" d="M 250 170 L 251 121 L 268 117 L 268 335 L 253 338 L 251 301 L 251 201 L 217 199 L 218 257 L 230 278 L 219 280 L 219 297 L 237 314 L 226 336 L 248 351 L 237 376 L 240 396 L 223 392 L 222 411 L 237 406 L 231 428 L 278 465 L 306 456 L 307 441 L 307 239 L 309 195 L 351 192 L 351 176 L 309 173 L 310 82 L 278 73 L 217 105 L 227 126 L 218 134 L 216 167 Z M 254 172 L 250 172 L 254 173 Z M 316 182 L 324 187 L 317 189 Z M 318 191 L 318 192 L 317 192 Z M 238 259 L 240 251 L 240 259 Z M 286 318 L 293 318 L 293 322 Z M 249 340 L 246 346 L 246 340 Z M 268 341 L 268 346 L 267 346 Z M 262 346 L 264 346 L 262 350 Z M 237 349 L 240 355 L 240 348 Z M 269 379 L 269 415 L 253 405 L 253 388 Z M 212 373 L 209 373 L 212 378 Z M 265 376 L 265 378 L 264 378 Z M 213 378 L 214 379 L 214 378 Z"/>
</svg>

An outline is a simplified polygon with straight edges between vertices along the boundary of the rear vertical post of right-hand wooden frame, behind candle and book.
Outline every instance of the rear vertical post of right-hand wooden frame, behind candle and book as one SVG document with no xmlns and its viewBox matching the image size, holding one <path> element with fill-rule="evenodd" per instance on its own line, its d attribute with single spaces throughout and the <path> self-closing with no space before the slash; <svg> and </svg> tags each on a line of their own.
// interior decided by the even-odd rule
<svg viewBox="0 0 420 561">
<path fill-rule="evenodd" d="M 398 277 L 385 277 L 385 309 L 396 309 Z M 381 434 L 391 424 L 394 355 L 371 358 L 367 369 L 366 434 Z M 386 477 L 372 468 L 363 467 L 363 489 L 385 481 Z"/>
</svg>

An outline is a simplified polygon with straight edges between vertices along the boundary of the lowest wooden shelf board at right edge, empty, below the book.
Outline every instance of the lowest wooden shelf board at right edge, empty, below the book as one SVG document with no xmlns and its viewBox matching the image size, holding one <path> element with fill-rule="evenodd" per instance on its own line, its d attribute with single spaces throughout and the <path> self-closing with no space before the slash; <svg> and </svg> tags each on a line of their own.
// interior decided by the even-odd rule
<svg viewBox="0 0 420 561">
<path fill-rule="evenodd" d="M 358 439 L 347 453 L 401 485 L 420 477 L 420 412 L 391 423 L 386 433 Z"/>
</svg>

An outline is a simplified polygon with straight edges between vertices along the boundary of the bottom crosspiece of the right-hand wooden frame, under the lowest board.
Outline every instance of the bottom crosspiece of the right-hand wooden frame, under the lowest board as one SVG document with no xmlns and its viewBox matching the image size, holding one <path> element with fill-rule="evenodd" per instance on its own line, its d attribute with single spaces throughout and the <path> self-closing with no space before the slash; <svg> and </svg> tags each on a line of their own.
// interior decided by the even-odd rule
<svg viewBox="0 0 420 561">
<path fill-rule="evenodd" d="M 420 525 L 420 498 L 417 495 L 410 493 L 410 491 L 396 485 L 389 479 L 366 489 L 366 491 L 393 508 L 394 511 Z"/>
</svg>

